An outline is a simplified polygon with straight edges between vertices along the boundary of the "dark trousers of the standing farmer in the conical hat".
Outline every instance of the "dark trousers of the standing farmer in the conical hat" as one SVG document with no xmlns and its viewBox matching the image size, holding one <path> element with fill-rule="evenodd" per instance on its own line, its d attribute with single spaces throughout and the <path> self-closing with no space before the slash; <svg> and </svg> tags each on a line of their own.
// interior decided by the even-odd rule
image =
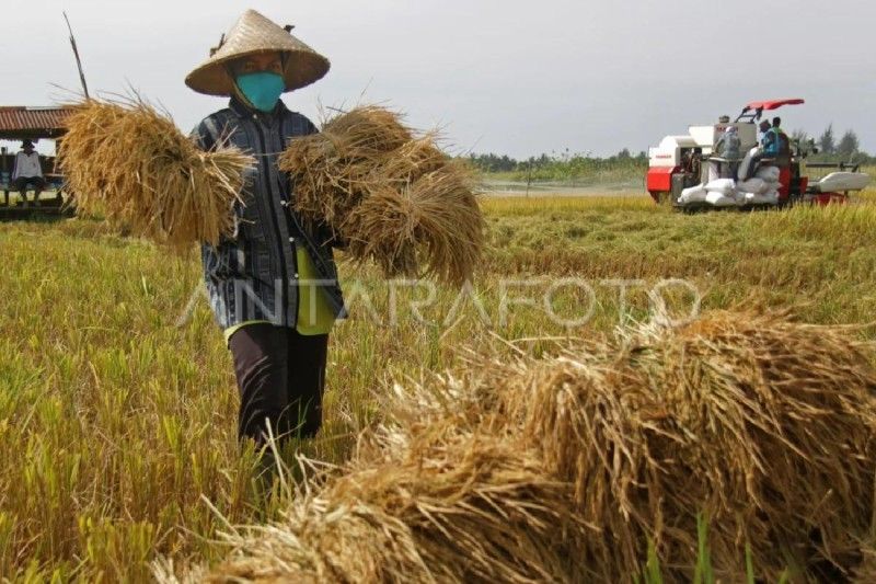
<svg viewBox="0 0 876 584">
<path fill-rule="evenodd" d="M 264 446 L 268 424 L 280 443 L 319 432 L 327 347 L 327 334 L 304 336 L 273 324 L 250 324 L 231 335 L 241 439 Z"/>
</svg>

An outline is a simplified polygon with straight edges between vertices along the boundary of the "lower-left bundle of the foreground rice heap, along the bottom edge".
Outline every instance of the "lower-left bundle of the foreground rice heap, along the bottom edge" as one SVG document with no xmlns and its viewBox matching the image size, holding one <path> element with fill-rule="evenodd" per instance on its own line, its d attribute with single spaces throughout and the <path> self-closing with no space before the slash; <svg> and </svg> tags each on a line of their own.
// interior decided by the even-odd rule
<svg viewBox="0 0 876 584">
<path fill-rule="evenodd" d="M 284 522 L 230 538 L 207 582 L 557 582 L 587 528 L 567 486 L 497 437 L 418 435 L 385 462 L 364 460 Z"/>
</svg>

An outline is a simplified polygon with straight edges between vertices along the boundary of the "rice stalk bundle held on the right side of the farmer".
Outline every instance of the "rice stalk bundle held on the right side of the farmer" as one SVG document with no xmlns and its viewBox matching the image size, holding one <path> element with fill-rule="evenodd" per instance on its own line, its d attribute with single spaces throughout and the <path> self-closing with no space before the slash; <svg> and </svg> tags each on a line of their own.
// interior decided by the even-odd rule
<svg viewBox="0 0 876 584">
<path fill-rule="evenodd" d="M 297 211 L 328 226 L 353 257 L 387 276 L 472 276 L 484 219 L 470 172 L 436 136 L 415 137 L 385 108 L 358 107 L 293 140 L 279 165 L 296 180 Z"/>
</svg>

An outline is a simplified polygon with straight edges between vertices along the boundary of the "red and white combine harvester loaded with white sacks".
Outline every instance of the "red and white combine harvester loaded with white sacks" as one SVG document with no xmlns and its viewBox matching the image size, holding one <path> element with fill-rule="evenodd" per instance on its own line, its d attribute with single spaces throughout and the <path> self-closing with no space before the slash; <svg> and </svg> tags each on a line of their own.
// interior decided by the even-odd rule
<svg viewBox="0 0 876 584">
<path fill-rule="evenodd" d="M 809 163 L 808 170 L 834 171 L 810 181 L 800 172 L 809 153 L 805 145 L 789 144 L 789 151 L 784 154 L 753 159 L 758 152 L 758 122 L 763 112 L 802 103 L 802 99 L 752 102 L 742 108 L 736 122 L 725 118 L 726 122 L 710 126 L 691 126 L 688 135 L 667 136 L 648 151 L 647 190 L 652 198 L 682 210 L 848 202 L 851 192 L 862 191 L 869 183 L 869 176 L 858 172 L 857 164 Z M 718 171 L 727 167 L 727 160 L 714 154 L 713 148 L 729 126 L 737 128 L 741 152 L 746 152 L 739 163 L 740 179 L 754 165 L 750 180 L 722 178 Z"/>
</svg>

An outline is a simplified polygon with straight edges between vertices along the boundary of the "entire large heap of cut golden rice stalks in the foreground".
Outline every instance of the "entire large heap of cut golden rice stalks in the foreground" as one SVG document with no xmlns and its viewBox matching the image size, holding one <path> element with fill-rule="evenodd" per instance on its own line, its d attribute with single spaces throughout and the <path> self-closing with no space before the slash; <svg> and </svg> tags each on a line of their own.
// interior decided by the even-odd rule
<svg viewBox="0 0 876 584">
<path fill-rule="evenodd" d="M 851 576 L 874 512 L 872 356 L 839 329 L 716 313 L 476 357 L 400 392 L 342 473 L 231 537 L 214 581 L 632 582 L 649 542 L 690 581 L 699 516 L 722 581 L 746 580 L 747 550 L 766 581 Z"/>
</svg>

